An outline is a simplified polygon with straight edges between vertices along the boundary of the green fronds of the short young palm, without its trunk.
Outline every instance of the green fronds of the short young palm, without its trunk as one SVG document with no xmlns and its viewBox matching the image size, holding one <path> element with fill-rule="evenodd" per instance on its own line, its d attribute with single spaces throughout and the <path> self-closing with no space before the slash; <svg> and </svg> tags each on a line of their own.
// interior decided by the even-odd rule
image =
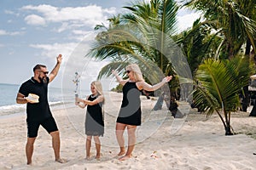
<svg viewBox="0 0 256 170">
<path fill-rule="evenodd" d="M 212 107 L 212 110 L 222 110 L 224 105 L 224 111 L 236 111 L 237 106 L 240 105 L 238 93 L 244 86 L 247 77 L 247 71 L 238 70 L 241 66 L 237 66 L 236 62 L 240 61 L 241 65 L 246 65 L 244 59 L 234 59 L 232 61 L 220 61 L 214 59 L 206 59 L 205 62 L 200 65 L 196 72 L 195 79 L 198 81 L 195 91 L 199 94 L 195 95 L 195 100 L 206 99 L 206 104 L 211 104 L 208 99 L 212 99 L 214 105 L 207 105 Z M 236 64 L 235 64 L 236 63 Z M 238 77 L 239 75 L 239 77 Z M 196 93 L 195 93 L 196 94 Z M 207 98 L 206 95 L 209 95 Z M 200 97 L 199 97 L 200 96 Z M 218 101 L 216 103 L 216 101 Z M 198 104 L 200 105 L 200 103 Z"/>
</svg>

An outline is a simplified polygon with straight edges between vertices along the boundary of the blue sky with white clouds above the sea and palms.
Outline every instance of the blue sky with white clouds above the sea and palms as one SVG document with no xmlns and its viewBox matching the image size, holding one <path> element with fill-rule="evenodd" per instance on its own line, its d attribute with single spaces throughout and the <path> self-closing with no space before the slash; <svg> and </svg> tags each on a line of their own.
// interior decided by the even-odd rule
<svg viewBox="0 0 256 170">
<path fill-rule="evenodd" d="M 129 2 L 1 0 L 0 83 L 25 82 L 32 77 L 32 67 L 38 63 L 47 65 L 51 71 L 55 57 L 62 54 L 61 70 L 51 86 L 61 88 L 72 82 L 75 71 L 83 72 L 81 82 L 87 86 L 106 63 L 84 59 L 83 50 L 79 48 L 90 48 L 96 34 L 94 26 L 102 23 L 108 26 L 107 19 L 124 11 L 122 7 Z M 179 29 L 192 26 L 198 16 L 180 11 L 177 18 Z M 86 45 L 80 47 L 81 42 Z"/>
</svg>

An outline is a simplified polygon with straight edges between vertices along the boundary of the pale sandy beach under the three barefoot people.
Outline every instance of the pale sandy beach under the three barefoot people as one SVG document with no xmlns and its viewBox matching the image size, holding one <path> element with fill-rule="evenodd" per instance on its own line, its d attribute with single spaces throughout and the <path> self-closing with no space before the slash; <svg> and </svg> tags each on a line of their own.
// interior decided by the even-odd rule
<svg viewBox="0 0 256 170">
<path fill-rule="evenodd" d="M 84 114 L 79 107 L 52 111 L 61 132 L 61 156 L 68 160 L 54 161 L 49 134 L 39 128 L 34 145 L 32 166 L 26 165 L 26 114 L 0 119 L 0 169 L 256 169 L 256 117 L 248 112 L 236 112 L 231 125 L 236 135 L 225 136 L 224 126 L 217 115 L 190 110 L 179 103 L 186 116 L 174 119 L 164 105 L 151 111 L 156 100 L 142 96 L 143 124 L 137 128 L 137 144 L 131 159 L 119 161 L 119 147 L 115 139 L 115 120 L 122 94 L 106 96 L 105 134 L 101 137 L 102 157 L 85 160 Z M 126 134 L 125 134 L 126 137 Z M 127 141 L 127 139 L 125 139 Z"/>
</svg>

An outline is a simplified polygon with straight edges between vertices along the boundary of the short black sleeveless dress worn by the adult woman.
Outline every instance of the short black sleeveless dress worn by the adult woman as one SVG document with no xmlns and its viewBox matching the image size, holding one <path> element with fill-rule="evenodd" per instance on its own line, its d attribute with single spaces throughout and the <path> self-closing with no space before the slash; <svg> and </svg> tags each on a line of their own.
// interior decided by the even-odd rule
<svg viewBox="0 0 256 170">
<path fill-rule="evenodd" d="M 141 92 L 136 82 L 126 82 L 123 87 L 123 101 L 116 122 L 140 126 L 142 123 Z"/>
</svg>

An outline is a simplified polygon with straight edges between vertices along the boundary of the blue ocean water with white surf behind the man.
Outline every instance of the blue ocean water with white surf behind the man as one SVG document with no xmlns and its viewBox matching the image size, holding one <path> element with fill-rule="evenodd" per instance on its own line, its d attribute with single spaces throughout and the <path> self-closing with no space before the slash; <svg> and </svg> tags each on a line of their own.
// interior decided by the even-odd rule
<svg viewBox="0 0 256 170">
<path fill-rule="evenodd" d="M 0 83 L 0 116 L 26 114 L 26 104 L 16 104 L 16 96 L 20 85 Z M 89 91 L 81 94 L 88 95 Z M 74 106 L 74 90 L 48 88 L 48 101 L 51 110 Z"/>
</svg>

